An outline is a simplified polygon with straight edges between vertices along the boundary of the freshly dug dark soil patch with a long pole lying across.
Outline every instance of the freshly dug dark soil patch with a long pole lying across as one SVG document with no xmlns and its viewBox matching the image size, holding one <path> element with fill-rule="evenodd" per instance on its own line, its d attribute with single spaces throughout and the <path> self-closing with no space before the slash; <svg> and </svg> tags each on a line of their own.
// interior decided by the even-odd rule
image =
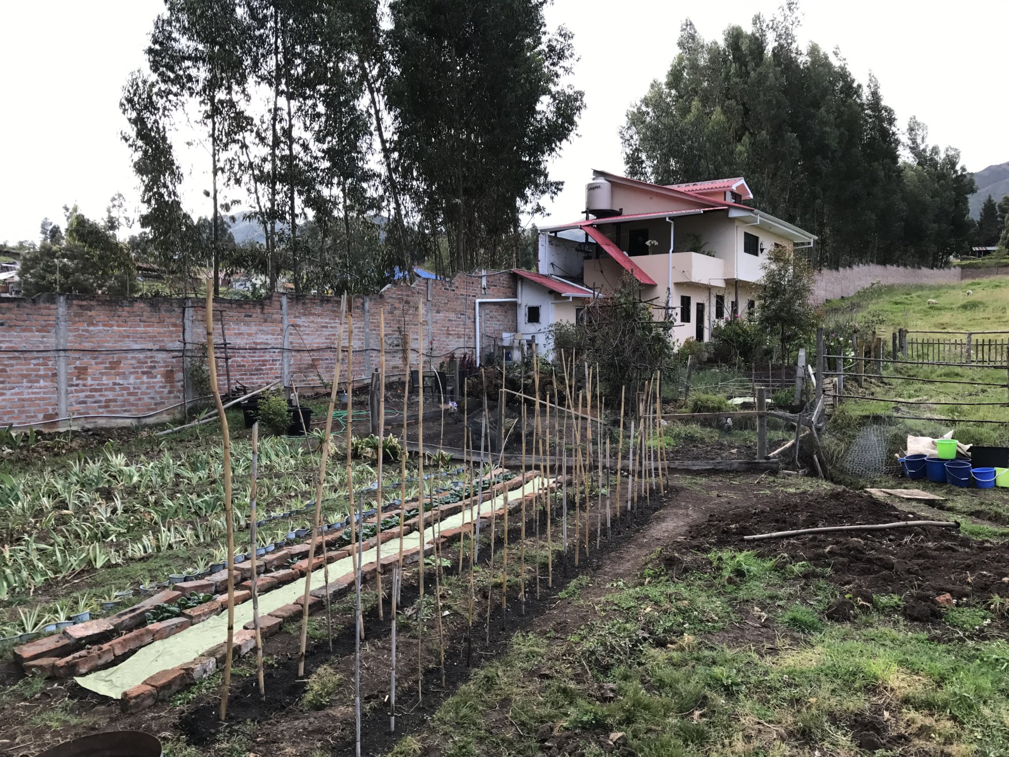
<svg viewBox="0 0 1009 757">
<path fill-rule="evenodd" d="M 1009 581 L 1004 580 L 1009 577 L 1009 548 L 970 539 L 957 529 L 909 527 L 743 540 L 773 531 L 910 520 L 931 519 L 846 490 L 737 508 L 712 516 L 690 535 L 708 548 L 786 554 L 792 561 L 828 567 L 845 593 L 864 602 L 872 602 L 872 594 L 901 594 L 905 616 L 919 622 L 938 616 L 934 600 L 942 593 L 958 600 L 1009 593 Z M 844 616 L 845 609 L 837 608 L 836 614 Z"/>
</svg>

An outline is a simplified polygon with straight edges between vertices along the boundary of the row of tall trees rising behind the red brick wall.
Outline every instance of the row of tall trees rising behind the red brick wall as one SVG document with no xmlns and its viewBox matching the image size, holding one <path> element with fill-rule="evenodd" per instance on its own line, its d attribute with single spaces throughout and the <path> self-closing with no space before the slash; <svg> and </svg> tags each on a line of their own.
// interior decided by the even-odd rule
<svg viewBox="0 0 1009 757">
<path fill-rule="evenodd" d="M 210 265 L 296 293 L 521 259 L 521 216 L 559 189 L 547 161 L 582 109 L 544 6 L 166 0 L 121 102 L 145 248 L 179 288 Z M 206 147 L 209 236 L 180 202 L 183 119 Z M 263 241 L 232 249 L 220 218 L 240 202 Z"/>
</svg>

